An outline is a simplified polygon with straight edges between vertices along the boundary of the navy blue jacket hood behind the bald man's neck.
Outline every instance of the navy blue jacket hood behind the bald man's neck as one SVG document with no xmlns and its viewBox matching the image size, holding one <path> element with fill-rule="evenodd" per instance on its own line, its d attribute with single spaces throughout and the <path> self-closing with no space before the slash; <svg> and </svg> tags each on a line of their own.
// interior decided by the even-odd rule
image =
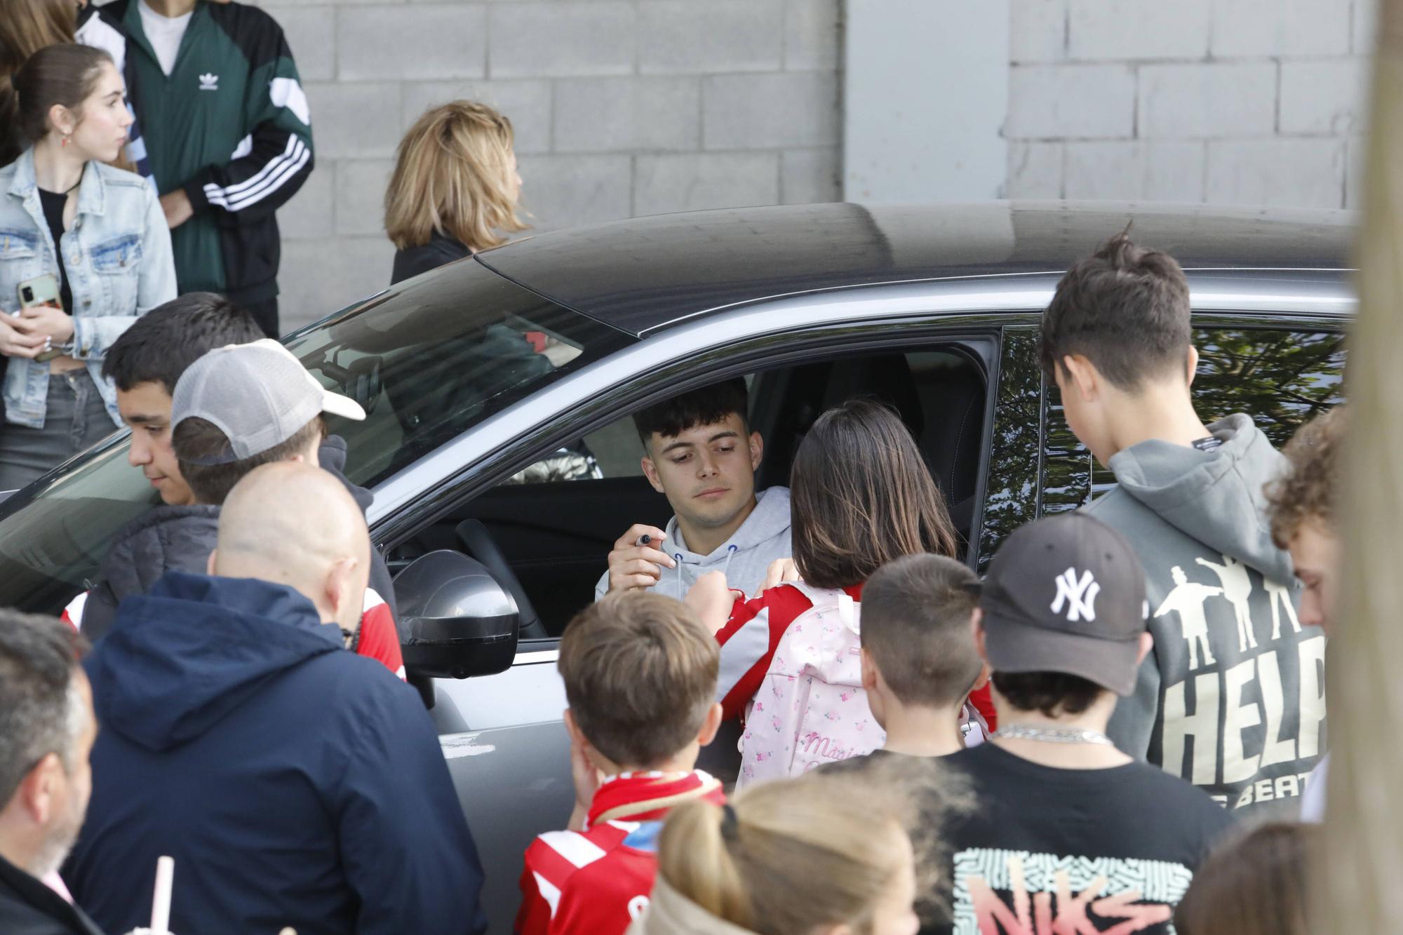
<svg viewBox="0 0 1403 935">
<path fill-rule="evenodd" d="M 171 571 L 122 602 L 87 670 L 102 729 L 160 752 L 208 731 L 269 678 L 340 651 L 337 626 L 289 587 Z"/>
</svg>

